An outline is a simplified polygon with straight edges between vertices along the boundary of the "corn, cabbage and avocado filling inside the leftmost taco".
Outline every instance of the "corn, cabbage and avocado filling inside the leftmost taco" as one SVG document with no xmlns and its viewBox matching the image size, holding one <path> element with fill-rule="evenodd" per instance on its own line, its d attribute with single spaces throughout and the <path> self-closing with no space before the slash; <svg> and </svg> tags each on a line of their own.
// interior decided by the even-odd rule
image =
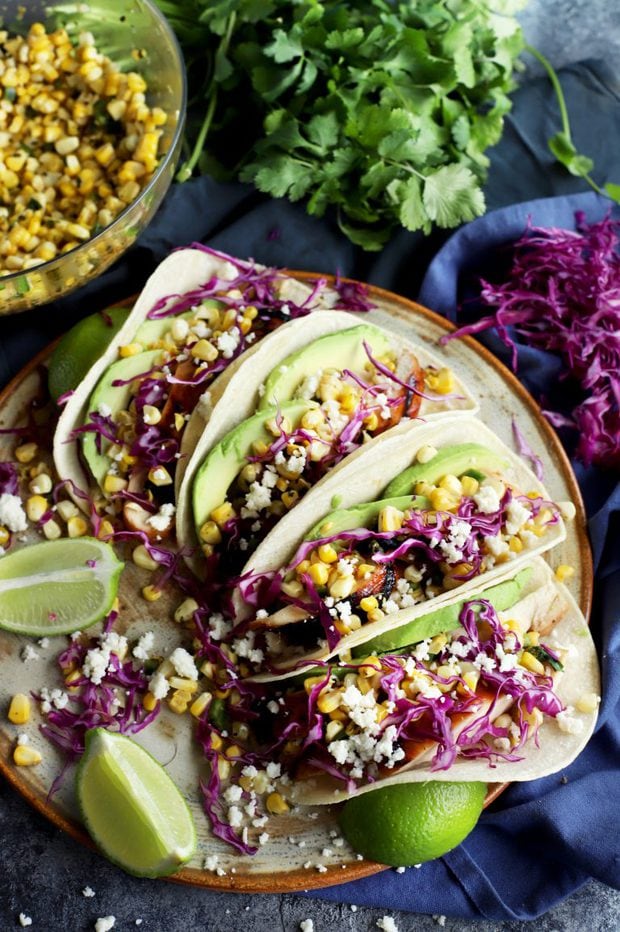
<svg viewBox="0 0 620 932">
<path fill-rule="evenodd" d="M 325 288 L 318 281 L 302 303 L 273 269 L 234 263 L 231 280 L 213 277 L 184 295 L 159 300 L 88 402 L 82 454 L 101 492 L 99 509 L 123 512 L 125 524 L 151 539 L 167 536 L 181 440 L 191 412 L 240 354 L 291 318 L 310 313 Z M 300 299 L 301 300 L 301 299 Z M 162 507 L 163 506 L 163 507 Z"/>
</svg>

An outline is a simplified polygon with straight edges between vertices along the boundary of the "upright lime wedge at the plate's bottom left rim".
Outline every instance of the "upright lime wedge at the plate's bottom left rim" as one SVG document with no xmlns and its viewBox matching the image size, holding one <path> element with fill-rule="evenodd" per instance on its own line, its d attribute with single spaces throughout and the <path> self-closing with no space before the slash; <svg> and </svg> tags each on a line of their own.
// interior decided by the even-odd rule
<svg viewBox="0 0 620 932">
<path fill-rule="evenodd" d="M 172 874 L 196 849 L 185 799 L 161 764 L 131 738 L 104 728 L 88 731 L 76 792 L 93 841 L 130 874 Z"/>
</svg>

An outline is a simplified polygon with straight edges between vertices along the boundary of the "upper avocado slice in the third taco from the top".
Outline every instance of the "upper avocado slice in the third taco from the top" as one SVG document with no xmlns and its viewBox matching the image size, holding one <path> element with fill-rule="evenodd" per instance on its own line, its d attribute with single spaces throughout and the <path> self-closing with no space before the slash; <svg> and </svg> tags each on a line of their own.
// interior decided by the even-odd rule
<svg viewBox="0 0 620 932">
<path fill-rule="evenodd" d="M 503 470 L 508 463 L 505 459 L 483 447 L 479 443 L 457 443 L 443 447 L 428 463 L 414 463 L 400 475 L 396 476 L 383 494 L 386 498 L 394 495 L 411 495 L 416 482 L 425 480 L 435 483 L 442 476 L 462 476 L 476 470 L 477 475 Z"/>
</svg>

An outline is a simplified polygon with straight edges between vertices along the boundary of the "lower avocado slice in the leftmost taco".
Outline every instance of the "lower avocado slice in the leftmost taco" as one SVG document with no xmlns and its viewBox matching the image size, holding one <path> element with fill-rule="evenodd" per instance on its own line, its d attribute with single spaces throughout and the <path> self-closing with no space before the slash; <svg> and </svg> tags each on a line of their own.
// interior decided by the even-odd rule
<svg viewBox="0 0 620 932">
<path fill-rule="evenodd" d="M 129 404 L 131 385 L 113 385 L 112 383 L 117 379 L 125 381 L 143 372 L 148 372 L 160 360 L 161 350 L 150 350 L 148 353 L 138 353 L 136 356 L 128 356 L 126 359 L 113 362 L 103 373 L 90 396 L 88 414 L 91 411 L 98 411 L 100 405 L 106 405 L 111 409 L 112 417 L 114 417 Z M 105 453 L 97 451 L 96 434 L 91 432 L 82 434 L 82 452 L 93 477 L 101 486 L 110 468 L 110 459 Z"/>
</svg>

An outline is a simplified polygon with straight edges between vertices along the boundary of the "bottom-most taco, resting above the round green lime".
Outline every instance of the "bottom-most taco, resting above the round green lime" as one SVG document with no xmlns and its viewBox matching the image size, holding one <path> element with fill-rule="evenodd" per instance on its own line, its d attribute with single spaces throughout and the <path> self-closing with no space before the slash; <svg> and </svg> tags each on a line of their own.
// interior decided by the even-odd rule
<svg viewBox="0 0 620 932">
<path fill-rule="evenodd" d="M 422 619 L 387 653 L 323 664 L 261 694 L 253 710 L 294 801 L 404 782 L 532 780 L 577 756 L 597 717 L 594 644 L 546 563 L 522 572 L 504 611 L 492 590 L 470 594 L 442 630 Z"/>
</svg>

